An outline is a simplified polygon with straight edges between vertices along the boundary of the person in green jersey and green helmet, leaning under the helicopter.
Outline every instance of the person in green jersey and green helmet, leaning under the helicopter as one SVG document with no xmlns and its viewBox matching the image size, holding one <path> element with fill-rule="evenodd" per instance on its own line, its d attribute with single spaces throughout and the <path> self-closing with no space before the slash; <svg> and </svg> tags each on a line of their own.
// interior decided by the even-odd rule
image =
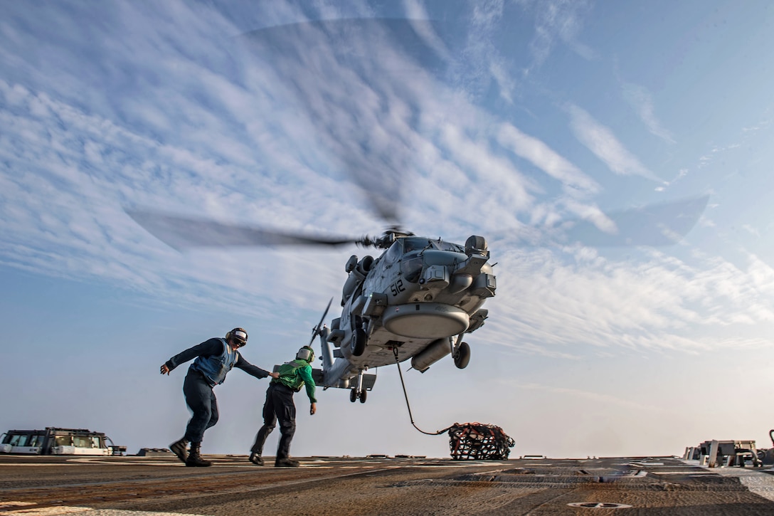
<svg viewBox="0 0 774 516">
<path fill-rule="evenodd" d="M 272 433 L 279 420 L 279 446 L 274 461 L 275 467 L 296 467 L 298 461 L 290 458 L 290 442 L 296 432 L 296 405 L 293 403 L 293 394 L 306 386 L 307 396 L 311 402 L 309 413 L 317 412 L 317 400 L 314 399 L 314 380 L 312 378 L 312 366 L 314 351 L 309 346 L 303 346 L 296 353 L 296 359 L 279 366 L 279 378 L 269 383 L 266 390 L 266 402 L 263 405 L 263 426 L 255 435 L 255 444 L 250 450 L 250 462 L 256 466 L 263 466 L 261 454 L 266 438 Z"/>
</svg>

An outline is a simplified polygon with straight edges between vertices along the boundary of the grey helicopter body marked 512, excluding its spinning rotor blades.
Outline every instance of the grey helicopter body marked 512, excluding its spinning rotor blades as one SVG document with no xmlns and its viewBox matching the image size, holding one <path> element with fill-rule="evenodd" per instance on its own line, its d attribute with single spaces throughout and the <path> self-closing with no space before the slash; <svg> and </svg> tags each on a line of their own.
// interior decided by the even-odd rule
<svg viewBox="0 0 774 516">
<path fill-rule="evenodd" d="M 347 261 L 341 317 L 313 332 L 322 349 L 320 385 L 350 389 L 350 401 L 361 403 L 375 382 L 365 373 L 372 367 L 410 359 L 424 373 L 451 355 L 464 369 L 471 348 L 462 339 L 484 325 L 481 306 L 497 288 L 482 236 L 461 246 L 392 229 L 372 245 L 385 250 Z"/>
</svg>

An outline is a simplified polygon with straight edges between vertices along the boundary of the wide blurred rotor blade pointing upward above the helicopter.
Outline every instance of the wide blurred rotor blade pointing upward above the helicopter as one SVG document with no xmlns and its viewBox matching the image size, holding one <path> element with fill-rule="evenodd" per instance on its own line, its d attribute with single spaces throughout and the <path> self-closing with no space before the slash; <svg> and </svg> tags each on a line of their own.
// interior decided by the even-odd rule
<svg viewBox="0 0 774 516">
<path fill-rule="evenodd" d="M 333 19 L 257 29 L 240 36 L 286 84 L 286 94 L 316 129 L 320 142 L 360 187 L 368 207 L 395 225 L 404 176 L 416 162 L 413 139 L 396 122 L 401 109 L 364 99 L 405 97 L 416 71 L 447 67 L 443 46 L 428 40 L 439 25 L 417 19 Z M 377 52 L 377 56 L 372 51 Z M 300 80 L 303 77 L 303 80 Z M 349 77 L 341 88 L 341 77 Z M 400 106 L 399 106 L 400 107 Z M 375 129 L 378 124 L 379 130 Z"/>
</svg>

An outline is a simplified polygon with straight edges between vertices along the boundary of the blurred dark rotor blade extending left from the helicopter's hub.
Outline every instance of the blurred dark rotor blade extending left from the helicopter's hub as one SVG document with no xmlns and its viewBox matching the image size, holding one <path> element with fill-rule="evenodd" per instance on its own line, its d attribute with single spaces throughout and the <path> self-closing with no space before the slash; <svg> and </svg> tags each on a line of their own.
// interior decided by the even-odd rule
<svg viewBox="0 0 774 516">
<path fill-rule="evenodd" d="M 160 212 L 128 209 L 125 212 L 150 234 L 178 250 L 214 246 L 343 246 L 352 243 L 371 245 L 371 239 L 367 236 L 313 236 L 299 232 L 223 224 Z"/>
</svg>

